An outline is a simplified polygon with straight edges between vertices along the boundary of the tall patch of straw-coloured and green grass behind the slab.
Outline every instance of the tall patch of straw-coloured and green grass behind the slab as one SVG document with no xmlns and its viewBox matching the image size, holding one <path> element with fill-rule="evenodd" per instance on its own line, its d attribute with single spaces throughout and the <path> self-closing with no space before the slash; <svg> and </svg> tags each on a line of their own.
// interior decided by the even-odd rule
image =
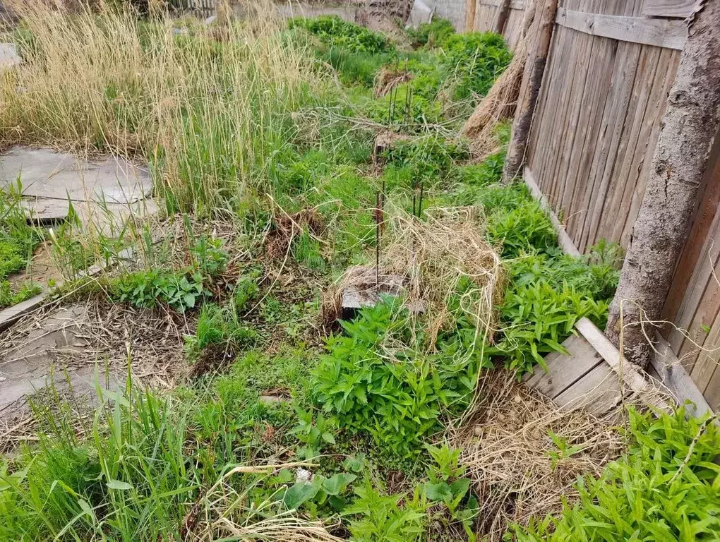
<svg viewBox="0 0 720 542">
<path fill-rule="evenodd" d="M 7 38 L 24 63 L 0 77 L 0 142 L 149 161 L 170 212 L 239 209 L 268 190 L 292 112 L 323 94 L 312 54 L 278 32 L 271 6 L 205 27 L 44 4 L 21 6 Z"/>
</svg>

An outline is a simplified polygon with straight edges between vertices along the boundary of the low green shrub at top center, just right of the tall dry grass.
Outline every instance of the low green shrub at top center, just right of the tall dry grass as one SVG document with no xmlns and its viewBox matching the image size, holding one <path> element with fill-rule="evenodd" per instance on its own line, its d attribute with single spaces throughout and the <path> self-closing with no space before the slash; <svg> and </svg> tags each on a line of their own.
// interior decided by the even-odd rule
<svg viewBox="0 0 720 542">
<path fill-rule="evenodd" d="M 310 19 L 297 17 L 290 19 L 288 26 L 291 29 L 305 28 L 326 45 L 351 53 L 384 53 L 393 48 L 392 42 L 386 37 L 337 15 L 321 15 Z"/>
</svg>

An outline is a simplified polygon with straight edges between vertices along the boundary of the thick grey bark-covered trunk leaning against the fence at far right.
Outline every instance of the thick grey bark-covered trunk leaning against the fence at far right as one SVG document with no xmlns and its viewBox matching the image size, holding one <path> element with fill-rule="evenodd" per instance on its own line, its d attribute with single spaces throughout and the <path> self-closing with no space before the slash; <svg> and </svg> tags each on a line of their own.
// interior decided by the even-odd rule
<svg viewBox="0 0 720 542">
<path fill-rule="evenodd" d="M 622 342 L 626 358 L 643 368 L 654 353 L 649 322 L 660 320 L 719 126 L 720 0 L 706 0 L 690 17 L 688 41 L 667 98 L 647 188 L 608 316 L 608 338 L 618 346 Z"/>
</svg>

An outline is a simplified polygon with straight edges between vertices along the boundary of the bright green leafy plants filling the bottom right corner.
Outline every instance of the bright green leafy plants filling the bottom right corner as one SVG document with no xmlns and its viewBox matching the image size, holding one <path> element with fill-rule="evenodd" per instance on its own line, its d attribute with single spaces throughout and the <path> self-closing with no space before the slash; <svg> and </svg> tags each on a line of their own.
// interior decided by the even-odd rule
<svg viewBox="0 0 720 542">
<path fill-rule="evenodd" d="M 703 429 L 701 431 L 701 428 Z M 720 432 L 674 414 L 630 411 L 634 441 L 600 479 L 577 483 L 580 501 L 559 518 L 516 528 L 518 541 L 696 541 L 720 538 Z"/>
</svg>

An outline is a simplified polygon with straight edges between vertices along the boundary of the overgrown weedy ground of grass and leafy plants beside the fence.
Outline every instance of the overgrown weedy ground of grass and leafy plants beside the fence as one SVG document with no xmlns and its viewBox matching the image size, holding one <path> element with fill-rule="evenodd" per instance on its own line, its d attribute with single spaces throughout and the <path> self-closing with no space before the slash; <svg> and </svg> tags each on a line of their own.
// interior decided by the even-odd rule
<svg viewBox="0 0 720 542">
<path fill-rule="evenodd" d="M 403 50 L 325 17 L 287 27 L 259 12 L 206 28 L 130 12 L 28 10 L 14 35 L 26 64 L 0 81 L 0 125 L 17 129 L 1 137 L 150 161 L 167 216 L 112 238 L 82 239 L 72 226 L 58 245 L 65 234 L 88 245 L 92 257 L 74 271 L 132 247 L 132 266 L 73 283 L 73 295 L 179 322 L 187 374 L 172 392 L 143 387 L 128 341 L 125 386 L 98 387 L 90 417 L 63 409 L 59 396 L 57 408 L 37 408 L 37 443 L 1 462 L 0 536 L 495 536 L 481 512 L 492 506 L 479 500 L 494 497 L 448 430 L 476 403 L 482 375 L 509 369 L 514 379 L 562 351 L 580 317 L 602 325 L 618 280 L 614 245 L 564 256 L 527 189 L 499 184 L 504 151 L 468 163 L 467 142 L 454 135 L 455 117 L 507 66 L 503 40 L 433 22 L 411 35 L 420 49 Z M 174 32 L 178 24 L 186 32 Z M 399 70 L 410 78 L 373 93 L 381 71 Z M 60 77 L 71 71 L 86 77 Z M 388 129 L 392 145 L 374 155 L 377 132 Z M 498 148 L 508 132 L 498 127 Z M 384 299 L 333 327 L 326 292 L 348 266 L 374 262 L 381 196 L 389 240 L 418 234 L 420 243 L 447 224 L 438 217 L 467 216 L 467 238 L 492 263 L 426 258 L 415 284 L 440 291 L 420 298 L 441 310 L 417 315 L 402 297 Z M 423 253 L 405 245 L 389 252 L 394 260 Z M 492 269 L 491 292 L 490 274 L 481 280 L 473 269 Z M 562 537 L 577 523 L 588 539 L 652 531 L 647 523 L 664 534 L 716 533 L 711 513 L 676 502 L 716 491 L 716 433 L 690 449 L 699 428 L 682 412 L 633 414 L 631 423 L 629 455 L 600 482 L 583 482 L 580 501 L 508 536 Z M 564 435 L 546 437 L 550 464 L 577 453 Z M 636 493 L 642 506 L 625 501 L 628 474 L 647 487 Z"/>
</svg>

